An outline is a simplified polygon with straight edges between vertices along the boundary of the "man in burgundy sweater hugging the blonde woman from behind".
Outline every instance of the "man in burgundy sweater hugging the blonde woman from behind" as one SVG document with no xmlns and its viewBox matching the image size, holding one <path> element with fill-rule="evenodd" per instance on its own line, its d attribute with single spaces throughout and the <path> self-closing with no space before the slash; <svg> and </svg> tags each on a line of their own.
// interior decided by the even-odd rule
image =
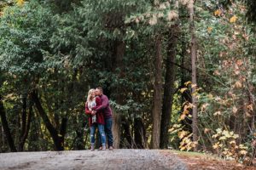
<svg viewBox="0 0 256 170">
<path fill-rule="evenodd" d="M 112 134 L 112 111 L 109 105 L 109 100 L 106 95 L 103 94 L 101 87 L 96 88 L 96 95 L 102 99 L 102 105 L 97 106 L 94 111 L 102 111 L 105 119 L 105 133 L 108 137 L 108 149 L 113 150 L 113 134 Z M 101 149 L 100 149 L 101 150 Z"/>
</svg>

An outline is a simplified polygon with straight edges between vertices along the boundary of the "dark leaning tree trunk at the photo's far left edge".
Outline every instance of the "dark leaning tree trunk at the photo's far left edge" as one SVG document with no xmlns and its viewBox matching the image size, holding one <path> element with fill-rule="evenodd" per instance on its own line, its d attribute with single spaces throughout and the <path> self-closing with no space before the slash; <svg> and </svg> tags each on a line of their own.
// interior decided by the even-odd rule
<svg viewBox="0 0 256 170">
<path fill-rule="evenodd" d="M 1 122 L 3 125 L 3 132 L 6 136 L 7 142 L 9 144 L 9 148 L 11 151 L 15 152 L 17 151 L 17 149 L 15 148 L 15 142 L 10 133 L 9 124 L 7 122 L 6 113 L 3 107 L 3 100 L 1 95 L 0 95 L 0 116 L 1 116 Z"/>
</svg>

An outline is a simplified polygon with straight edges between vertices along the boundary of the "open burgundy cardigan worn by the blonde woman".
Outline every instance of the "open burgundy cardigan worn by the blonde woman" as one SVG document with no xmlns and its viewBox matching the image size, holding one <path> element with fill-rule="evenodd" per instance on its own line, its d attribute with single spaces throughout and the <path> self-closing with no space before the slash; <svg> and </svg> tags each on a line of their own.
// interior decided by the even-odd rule
<svg viewBox="0 0 256 170">
<path fill-rule="evenodd" d="M 102 100 L 99 97 L 96 97 L 96 107 L 99 106 L 99 105 L 102 105 Z M 92 125 L 92 123 L 91 123 L 92 122 L 92 116 L 91 116 L 91 111 L 88 108 L 87 102 L 85 103 L 85 114 L 89 115 L 89 125 L 91 127 L 91 125 Z M 102 111 L 97 111 L 96 112 L 96 122 L 98 124 L 102 124 L 102 125 L 105 124 L 104 116 L 102 114 Z"/>
</svg>

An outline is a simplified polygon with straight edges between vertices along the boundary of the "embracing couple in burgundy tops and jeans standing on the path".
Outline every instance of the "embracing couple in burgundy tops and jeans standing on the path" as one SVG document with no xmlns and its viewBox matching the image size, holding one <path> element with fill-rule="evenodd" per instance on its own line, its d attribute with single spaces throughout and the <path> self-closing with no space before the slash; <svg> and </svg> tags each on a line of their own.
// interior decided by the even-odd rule
<svg viewBox="0 0 256 170">
<path fill-rule="evenodd" d="M 102 143 L 99 150 L 106 150 L 107 140 L 108 149 L 113 150 L 112 111 L 108 97 L 103 94 L 101 87 L 89 90 L 85 103 L 85 113 L 89 115 L 90 150 L 95 150 L 96 127 L 100 133 Z"/>
</svg>

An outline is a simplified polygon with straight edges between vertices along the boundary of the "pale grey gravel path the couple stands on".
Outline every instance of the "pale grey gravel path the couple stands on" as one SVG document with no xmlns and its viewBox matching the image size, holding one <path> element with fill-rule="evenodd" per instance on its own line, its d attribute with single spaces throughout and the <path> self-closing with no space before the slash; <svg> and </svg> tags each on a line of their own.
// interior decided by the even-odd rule
<svg viewBox="0 0 256 170">
<path fill-rule="evenodd" d="M 0 169 L 187 170 L 188 168 L 177 156 L 171 153 L 162 154 L 160 150 L 75 150 L 0 154 Z"/>
</svg>

